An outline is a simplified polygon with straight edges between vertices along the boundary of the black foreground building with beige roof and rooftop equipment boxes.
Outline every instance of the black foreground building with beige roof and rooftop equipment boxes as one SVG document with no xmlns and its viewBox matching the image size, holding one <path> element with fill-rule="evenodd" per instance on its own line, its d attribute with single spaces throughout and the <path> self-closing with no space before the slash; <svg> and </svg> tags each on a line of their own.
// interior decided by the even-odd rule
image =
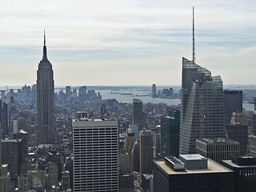
<svg viewBox="0 0 256 192">
<path fill-rule="evenodd" d="M 233 171 L 199 154 L 154 161 L 154 191 L 233 192 Z"/>
</svg>

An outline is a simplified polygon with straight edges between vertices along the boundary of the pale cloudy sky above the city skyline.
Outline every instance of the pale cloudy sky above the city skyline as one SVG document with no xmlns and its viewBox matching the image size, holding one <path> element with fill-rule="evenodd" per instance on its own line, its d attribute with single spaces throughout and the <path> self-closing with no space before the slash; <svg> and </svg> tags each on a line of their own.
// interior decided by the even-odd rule
<svg viewBox="0 0 256 192">
<path fill-rule="evenodd" d="M 255 0 L 1 0 L 0 86 L 36 83 L 46 30 L 55 86 L 181 85 L 182 57 L 255 84 Z"/>
</svg>

